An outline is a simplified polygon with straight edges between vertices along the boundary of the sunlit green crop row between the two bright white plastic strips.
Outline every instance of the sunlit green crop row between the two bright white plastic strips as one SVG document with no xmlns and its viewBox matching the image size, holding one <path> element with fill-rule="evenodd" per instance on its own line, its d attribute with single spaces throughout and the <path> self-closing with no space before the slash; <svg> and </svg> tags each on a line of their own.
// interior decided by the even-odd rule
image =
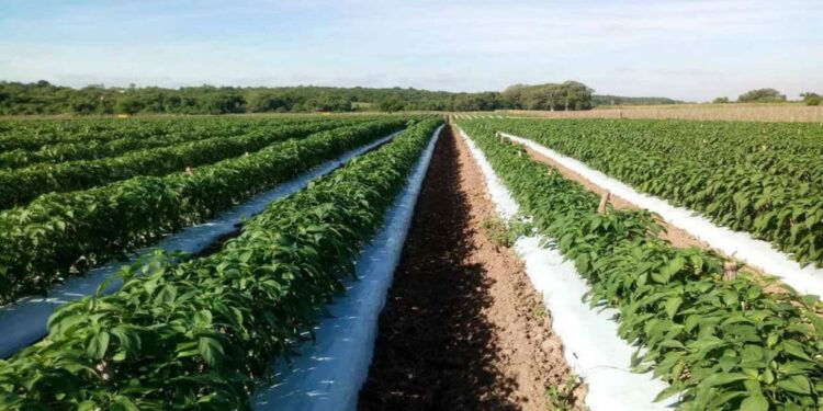
<svg viewBox="0 0 823 411">
<path fill-rule="evenodd" d="M 593 309 L 619 310 L 620 336 L 640 347 L 636 370 L 653 368 L 684 410 L 809 410 L 823 406 L 823 319 L 816 297 L 770 294 L 748 273 L 723 279 L 724 261 L 677 249 L 644 210 L 597 213 L 598 198 L 496 127 L 461 124 L 532 225 L 574 261 Z M 627 358 L 628 361 L 628 358 Z"/>
</svg>

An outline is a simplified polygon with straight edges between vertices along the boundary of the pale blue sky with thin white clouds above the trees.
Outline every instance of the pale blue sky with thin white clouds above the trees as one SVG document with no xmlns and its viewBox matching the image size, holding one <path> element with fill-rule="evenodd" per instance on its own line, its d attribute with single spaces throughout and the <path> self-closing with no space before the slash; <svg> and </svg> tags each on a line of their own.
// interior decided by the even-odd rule
<svg viewBox="0 0 823 411">
<path fill-rule="evenodd" d="M 823 92 L 821 0 L 0 0 L 0 79 Z"/>
</svg>

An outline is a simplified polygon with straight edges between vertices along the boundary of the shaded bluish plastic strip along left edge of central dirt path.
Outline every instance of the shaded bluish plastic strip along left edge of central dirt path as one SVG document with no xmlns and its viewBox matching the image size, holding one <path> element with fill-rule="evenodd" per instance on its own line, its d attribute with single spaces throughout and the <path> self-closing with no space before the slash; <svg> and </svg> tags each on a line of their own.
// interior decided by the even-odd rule
<svg viewBox="0 0 823 411">
<path fill-rule="evenodd" d="M 401 259 L 415 204 L 431 160 L 440 126 L 424 150 L 408 184 L 386 212 L 383 228 L 363 249 L 357 281 L 327 307 L 329 317 L 315 328 L 292 364 L 274 361 L 273 384 L 251 399 L 255 410 L 354 410 L 374 351 L 377 319 Z"/>
</svg>

